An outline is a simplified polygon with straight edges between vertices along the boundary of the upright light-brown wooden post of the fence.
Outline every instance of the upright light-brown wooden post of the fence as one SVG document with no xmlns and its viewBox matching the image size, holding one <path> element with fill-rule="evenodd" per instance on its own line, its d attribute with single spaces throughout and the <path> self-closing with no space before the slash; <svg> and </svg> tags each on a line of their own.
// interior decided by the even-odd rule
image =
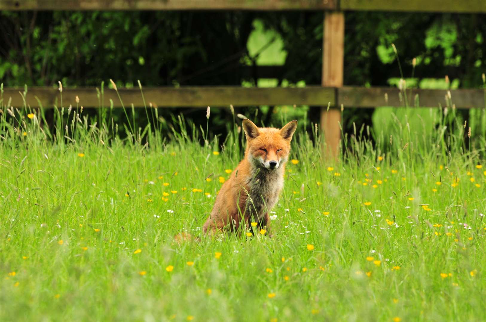
<svg viewBox="0 0 486 322">
<path fill-rule="evenodd" d="M 344 69 L 344 13 L 326 11 L 324 13 L 324 36 L 322 49 L 322 86 L 342 87 Z M 341 141 L 341 110 L 334 94 L 335 105 L 327 111 L 321 107 L 321 129 L 326 138 L 326 159 L 337 160 Z"/>
</svg>

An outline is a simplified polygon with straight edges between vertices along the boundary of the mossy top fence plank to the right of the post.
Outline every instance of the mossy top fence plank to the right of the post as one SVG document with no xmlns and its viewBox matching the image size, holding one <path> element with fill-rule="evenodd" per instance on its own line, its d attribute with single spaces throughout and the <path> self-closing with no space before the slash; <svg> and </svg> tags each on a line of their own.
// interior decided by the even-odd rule
<svg viewBox="0 0 486 322">
<path fill-rule="evenodd" d="M 486 13 L 485 0 L 341 0 L 341 10 Z"/>
</svg>

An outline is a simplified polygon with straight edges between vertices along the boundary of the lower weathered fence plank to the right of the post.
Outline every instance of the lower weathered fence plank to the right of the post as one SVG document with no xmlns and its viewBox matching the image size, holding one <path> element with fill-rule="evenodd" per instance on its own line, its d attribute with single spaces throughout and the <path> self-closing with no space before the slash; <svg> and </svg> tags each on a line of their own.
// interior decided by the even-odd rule
<svg viewBox="0 0 486 322">
<path fill-rule="evenodd" d="M 390 87 L 354 87 L 345 86 L 338 90 L 338 102 L 346 107 L 375 108 L 380 106 L 404 107 L 405 96 L 399 94 L 398 88 Z M 386 101 L 385 94 L 388 99 Z M 418 95 L 419 107 L 443 107 L 446 104 L 446 90 L 413 89 L 407 90 L 408 106 L 416 106 Z M 458 109 L 484 108 L 485 93 L 480 89 L 451 90 L 451 101 Z"/>
</svg>

